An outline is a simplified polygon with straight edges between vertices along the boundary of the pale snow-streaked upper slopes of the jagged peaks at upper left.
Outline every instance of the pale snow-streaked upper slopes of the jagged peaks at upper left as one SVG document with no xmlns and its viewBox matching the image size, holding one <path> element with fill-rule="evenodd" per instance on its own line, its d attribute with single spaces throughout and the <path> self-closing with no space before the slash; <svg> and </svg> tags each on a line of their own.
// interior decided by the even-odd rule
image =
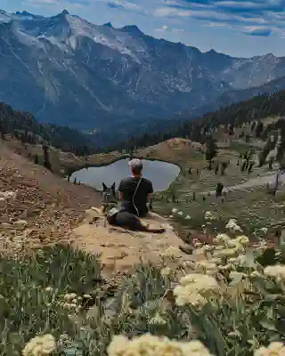
<svg viewBox="0 0 285 356">
<path fill-rule="evenodd" d="M 26 46 L 37 46 L 45 50 L 45 41 L 47 41 L 64 52 L 69 50 L 75 52 L 80 44 L 80 38 L 88 38 L 95 44 L 102 44 L 141 63 L 136 53 L 143 53 L 143 48 L 136 45 L 133 37 L 131 37 L 130 49 L 128 48 L 129 36 L 126 33 L 117 36 L 116 30 L 111 27 L 93 25 L 67 12 L 40 20 L 19 14 L 12 18 L 5 13 L 0 13 L 1 20 L 12 21 L 13 34 L 21 44 Z M 137 51 L 136 47 L 138 47 Z"/>
</svg>

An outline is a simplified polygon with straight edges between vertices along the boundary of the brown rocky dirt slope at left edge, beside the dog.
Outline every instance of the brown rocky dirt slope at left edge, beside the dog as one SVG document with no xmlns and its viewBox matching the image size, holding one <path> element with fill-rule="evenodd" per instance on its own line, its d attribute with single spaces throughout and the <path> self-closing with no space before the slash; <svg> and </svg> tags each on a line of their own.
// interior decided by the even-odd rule
<svg viewBox="0 0 285 356">
<path fill-rule="evenodd" d="M 64 181 L 3 143 L 0 150 L 0 191 L 16 192 L 14 199 L 0 201 L 2 249 L 56 243 L 84 219 L 86 208 L 99 206 L 92 188 Z M 18 221 L 27 226 L 16 228 Z"/>
</svg>

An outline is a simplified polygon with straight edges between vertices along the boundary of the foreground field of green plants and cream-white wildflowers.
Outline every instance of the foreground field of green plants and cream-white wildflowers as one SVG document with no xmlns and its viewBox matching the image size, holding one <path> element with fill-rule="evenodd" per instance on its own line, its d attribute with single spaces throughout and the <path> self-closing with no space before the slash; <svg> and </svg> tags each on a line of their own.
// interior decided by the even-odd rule
<svg viewBox="0 0 285 356">
<path fill-rule="evenodd" d="M 99 256 L 69 247 L 2 256 L 0 354 L 284 355 L 282 249 L 265 259 L 260 240 L 250 257 L 233 225 L 197 247 L 195 263 L 171 270 L 169 253 L 110 280 Z"/>
</svg>

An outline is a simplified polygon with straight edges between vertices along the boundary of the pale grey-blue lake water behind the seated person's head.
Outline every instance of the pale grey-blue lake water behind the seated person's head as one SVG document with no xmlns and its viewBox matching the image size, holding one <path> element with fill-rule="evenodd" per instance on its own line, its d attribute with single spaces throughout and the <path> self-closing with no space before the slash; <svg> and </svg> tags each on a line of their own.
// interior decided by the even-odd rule
<svg viewBox="0 0 285 356">
<path fill-rule="evenodd" d="M 131 175 L 128 162 L 129 159 L 125 158 L 109 166 L 94 166 L 80 169 L 71 174 L 70 182 L 73 182 L 74 178 L 76 178 L 77 182 L 79 181 L 83 184 L 90 185 L 96 190 L 102 190 L 102 182 L 108 187 L 115 182 L 117 190 L 119 182 L 123 178 Z M 143 177 L 152 182 L 154 191 L 167 190 L 169 185 L 175 181 L 180 173 L 179 166 L 167 162 L 142 159 L 142 165 Z"/>
</svg>

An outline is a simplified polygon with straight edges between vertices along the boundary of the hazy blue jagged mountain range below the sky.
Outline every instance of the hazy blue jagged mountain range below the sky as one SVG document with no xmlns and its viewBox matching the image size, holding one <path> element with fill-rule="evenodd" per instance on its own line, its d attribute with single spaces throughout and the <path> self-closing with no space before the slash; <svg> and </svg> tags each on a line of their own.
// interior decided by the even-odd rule
<svg viewBox="0 0 285 356">
<path fill-rule="evenodd" d="M 285 77 L 285 57 L 201 53 L 67 11 L 50 18 L 0 11 L 0 58 L 0 101 L 80 130 L 200 114 L 220 98 L 247 99 L 264 85 L 274 92 Z"/>
</svg>

